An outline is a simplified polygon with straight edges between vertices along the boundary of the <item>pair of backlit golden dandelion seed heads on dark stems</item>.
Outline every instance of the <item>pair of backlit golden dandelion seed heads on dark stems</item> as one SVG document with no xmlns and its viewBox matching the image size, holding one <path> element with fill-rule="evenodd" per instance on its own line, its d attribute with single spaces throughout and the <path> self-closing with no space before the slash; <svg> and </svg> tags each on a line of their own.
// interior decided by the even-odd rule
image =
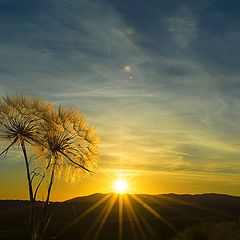
<svg viewBox="0 0 240 240">
<path fill-rule="evenodd" d="M 46 213 L 56 173 L 60 176 L 65 169 L 67 178 L 91 173 L 98 159 L 99 139 L 83 114 L 70 107 L 54 108 L 39 98 L 26 96 L 7 96 L 0 100 L 0 139 L 7 143 L 0 155 L 7 155 L 15 145 L 22 149 L 30 199 L 31 239 L 43 239 L 50 221 Z M 28 157 L 28 149 L 32 150 L 34 162 Z M 36 197 L 46 176 L 49 178 L 46 199 L 42 215 L 37 219 Z"/>
</svg>

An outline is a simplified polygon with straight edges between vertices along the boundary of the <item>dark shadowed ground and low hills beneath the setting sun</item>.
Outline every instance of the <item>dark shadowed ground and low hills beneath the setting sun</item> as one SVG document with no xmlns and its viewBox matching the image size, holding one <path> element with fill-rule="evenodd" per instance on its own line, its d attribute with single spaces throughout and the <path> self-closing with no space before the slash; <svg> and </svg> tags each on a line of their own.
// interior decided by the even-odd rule
<svg viewBox="0 0 240 240">
<path fill-rule="evenodd" d="M 240 240 L 240 197 L 228 195 L 93 194 L 49 210 L 47 239 Z M 28 201 L 0 201 L 0 240 L 27 240 L 27 223 Z"/>
</svg>

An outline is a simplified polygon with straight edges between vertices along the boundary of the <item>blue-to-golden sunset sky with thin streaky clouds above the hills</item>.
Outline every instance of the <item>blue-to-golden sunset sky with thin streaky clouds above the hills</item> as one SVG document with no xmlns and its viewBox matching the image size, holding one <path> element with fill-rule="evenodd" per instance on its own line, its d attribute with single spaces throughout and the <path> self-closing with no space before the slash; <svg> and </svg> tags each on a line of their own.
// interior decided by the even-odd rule
<svg viewBox="0 0 240 240">
<path fill-rule="evenodd" d="M 0 29 L 0 96 L 71 105 L 101 137 L 95 173 L 57 180 L 52 200 L 119 178 L 130 193 L 240 195 L 239 1 L 0 0 Z M 0 182 L 1 199 L 28 198 L 18 148 Z"/>
</svg>

